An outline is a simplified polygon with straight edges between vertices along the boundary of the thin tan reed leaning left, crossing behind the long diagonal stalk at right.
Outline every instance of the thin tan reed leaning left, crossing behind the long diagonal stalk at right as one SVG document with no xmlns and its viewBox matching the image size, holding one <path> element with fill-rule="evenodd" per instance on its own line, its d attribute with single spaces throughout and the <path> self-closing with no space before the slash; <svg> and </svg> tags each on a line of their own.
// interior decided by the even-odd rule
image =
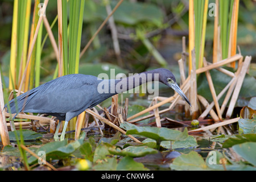
<svg viewBox="0 0 256 182">
<path fill-rule="evenodd" d="M 204 66 L 207 67 L 207 62 L 206 62 L 205 58 L 204 58 Z M 210 93 L 212 93 L 212 98 L 213 98 L 213 101 L 214 101 L 214 105 L 215 105 L 215 109 L 217 111 L 218 118 L 221 120 L 222 117 L 221 117 L 221 113 L 220 113 L 220 105 L 218 104 L 217 95 L 216 95 L 214 85 L 213 85 L 213 81 L 212 81 L 212 76 L 210 76 L 209 71 L 206 71 L 205 75 L 207 76 L 207 81 L 208 81 L 208 85 L 209 85 L 209 88 L 210 88 Z"/>
</svg>

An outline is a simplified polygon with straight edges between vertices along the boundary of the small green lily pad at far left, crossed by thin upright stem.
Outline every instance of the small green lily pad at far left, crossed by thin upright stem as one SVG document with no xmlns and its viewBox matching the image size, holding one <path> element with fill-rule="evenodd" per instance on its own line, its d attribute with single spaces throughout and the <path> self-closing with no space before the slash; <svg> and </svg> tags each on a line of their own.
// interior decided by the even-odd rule
<svg viewBox="0 0 256 182">
<path fill-rule="evenodd" d="M 16 137 L 15 137 L 15 131 L 9 131 L 9 138 L 10 140 L 16 141 Z M 18 138 L 20 140 L 20 130 L 16 130 L 16 133 L 18 135 Z M 22 136 L 24 141 L 26 140 L 36 140 L 36 139 L 40 139 L 43 137 L 42 134 L 40 133 L 36 133 L 35 131 L 32 130 L 22 130 Z"/>
</svg>

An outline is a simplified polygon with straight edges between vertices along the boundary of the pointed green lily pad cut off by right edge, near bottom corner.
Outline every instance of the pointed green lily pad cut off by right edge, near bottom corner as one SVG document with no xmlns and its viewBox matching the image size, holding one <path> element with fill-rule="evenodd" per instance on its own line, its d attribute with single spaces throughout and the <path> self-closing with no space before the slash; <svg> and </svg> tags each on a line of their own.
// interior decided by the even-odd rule
<svg viewBox="0 0 256 182">
<path fill-rule="evenodd" d="M 250 164 L 256 166 L 256 142 L 245 142 L 236 144 L 232 147 L 233 150 Z"/>
</svg>

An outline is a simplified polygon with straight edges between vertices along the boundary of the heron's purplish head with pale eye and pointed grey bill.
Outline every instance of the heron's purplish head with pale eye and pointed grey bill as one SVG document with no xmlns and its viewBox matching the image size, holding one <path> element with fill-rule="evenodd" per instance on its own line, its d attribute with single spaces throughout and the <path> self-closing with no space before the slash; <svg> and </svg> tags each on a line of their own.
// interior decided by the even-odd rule
<svg viewBox="0 0 256 182">
<path fill-rule="evenodd" d="M 158 74 L 159 74 L 159 81 L 160 82 L 162 82 L 163 84 L 165 84 L 165 85 L 171 87 L 172 89 L 174 89 L 191 106 L 188 98 L 182 92 L 179 85 L 177 85 L 174 74 L 172 74 L 171 71 L 169 71 L 168 69 L 160 68 L 160 69 L 158 69 Z"/>
</svg>

